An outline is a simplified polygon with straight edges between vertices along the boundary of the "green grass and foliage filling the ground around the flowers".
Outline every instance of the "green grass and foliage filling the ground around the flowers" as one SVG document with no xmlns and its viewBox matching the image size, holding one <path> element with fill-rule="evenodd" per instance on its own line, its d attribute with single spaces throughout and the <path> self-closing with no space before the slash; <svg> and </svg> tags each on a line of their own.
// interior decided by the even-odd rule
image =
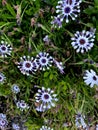
<svg viewBox="0 0 98 130">
<path fill-rule="evenodd" d="M 63 22 L 60 29 L 51 25 L 51 16 L 56 16 L 56 5 L 55 0 L 0 2 L 0 41 L 4 39 L 13 47 L 10 57 L 0 57 L 0 72 L 6 76 L 6 81 L 0 84 L 0 113 L 6 114 L 9 130 L 17 119 L 28 130 L 40 129 L 45 124 L 54 130 L 77 130 L 75 117 L 78 112 L 85 115 L 90 128 L 95 129 L 98 123 L 98 86 L 90 88 L 83 81 L 85 70 L 93 69 L 98 74 L 98 0 L 83 0 L 78 18 L 67 24 Z M 96 28 L 94 47 L 84 54 L 76 53 L 71 46 L 71 37 L 76 31 L 90 28 Z M 49 44 L 43 42 L 46 35 L 51 39 Z M 60 74 L 53 66 L 45 72 L 38 71 L 34 76 L 23 75 L 17 68 L 20 57 L 36 57 L 41 51 L 49 52 L 61 61 L 65 74 Z M 84 62 L 85 59 L 88 62 Z M 10 89 L 13 84 L 20 87 L 17 96 Z M 42 113 L 35 110 L 37 88 L 34 85 L 55 90 L 58 97 L 55 108 Z M 30 109 L 21 112 L 14 102 L 16 97 L 25 100 Z"/>
</svg>

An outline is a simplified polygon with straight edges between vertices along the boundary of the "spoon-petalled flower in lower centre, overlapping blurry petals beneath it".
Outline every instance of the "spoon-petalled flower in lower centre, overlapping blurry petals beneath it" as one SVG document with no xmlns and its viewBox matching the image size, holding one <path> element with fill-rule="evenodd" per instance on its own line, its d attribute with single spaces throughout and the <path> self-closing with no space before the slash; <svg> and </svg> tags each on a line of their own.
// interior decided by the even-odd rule
<svg viewBox="0 0 98 130">
<path fill-rule="evenodd" d="M 37 111 L 45 111 L 50 109 L 51 107 L 55 107 L 55 102 L 58 101 L 56 98 L 56 94 L 50 88 L 38 89 L 38 93 L 35 95 L 36 103 L 40 105 L 36 108 Z"/>
</svg>

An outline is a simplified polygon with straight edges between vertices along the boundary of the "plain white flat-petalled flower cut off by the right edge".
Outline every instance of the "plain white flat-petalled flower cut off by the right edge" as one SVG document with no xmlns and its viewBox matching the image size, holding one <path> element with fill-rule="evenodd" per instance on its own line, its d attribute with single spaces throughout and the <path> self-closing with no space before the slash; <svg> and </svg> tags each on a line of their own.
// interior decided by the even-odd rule
<svg viewBox="0 0 98 130">
<path fill-rule="evenodd" d="M 98 86 L 98 76 L 96 75 L 96 72 L 93 71 L 92 69 L 90 71 L 88 71 L 88 70 L 85 71 L 85 75 L 84 75 L 83 79 L 84 79 L 84 82 L 87 85 L 90 85 L 91 88 L 94 85 Z"/>
</svg>

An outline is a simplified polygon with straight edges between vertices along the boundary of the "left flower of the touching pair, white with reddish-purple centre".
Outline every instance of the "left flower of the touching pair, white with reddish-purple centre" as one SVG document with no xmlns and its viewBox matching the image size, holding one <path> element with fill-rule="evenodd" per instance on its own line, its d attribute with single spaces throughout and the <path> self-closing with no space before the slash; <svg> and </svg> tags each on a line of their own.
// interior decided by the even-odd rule
<svg viewBox="0 0 98 130">
<path fill-rule="evenodd" d="M 18 68 L 22 74 L 28 76 L 29 74 L 34 74 L 34 72 L 37 71 L 33 57 L 23 56 L 20 59 L 21 61 L 18 62 Z"/>
</svg>

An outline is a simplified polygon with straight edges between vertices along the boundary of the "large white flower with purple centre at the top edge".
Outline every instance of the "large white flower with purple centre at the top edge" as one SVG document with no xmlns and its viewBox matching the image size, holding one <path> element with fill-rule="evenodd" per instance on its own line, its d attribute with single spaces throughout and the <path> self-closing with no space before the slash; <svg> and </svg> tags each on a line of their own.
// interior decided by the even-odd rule
<svg viewBox="0 0 98 130">
<path fill-rule="evenodd" d="M 63 21 L 66 19 L 66 23 L 69 22 L 69 17 L 72 20 L 78 16 L 80 12 L 80 0 L 60 0 L 58 1 L 58 5 L 56 6 L 56 13 L 58 14 L 57 17 Z"/>
</svg>

